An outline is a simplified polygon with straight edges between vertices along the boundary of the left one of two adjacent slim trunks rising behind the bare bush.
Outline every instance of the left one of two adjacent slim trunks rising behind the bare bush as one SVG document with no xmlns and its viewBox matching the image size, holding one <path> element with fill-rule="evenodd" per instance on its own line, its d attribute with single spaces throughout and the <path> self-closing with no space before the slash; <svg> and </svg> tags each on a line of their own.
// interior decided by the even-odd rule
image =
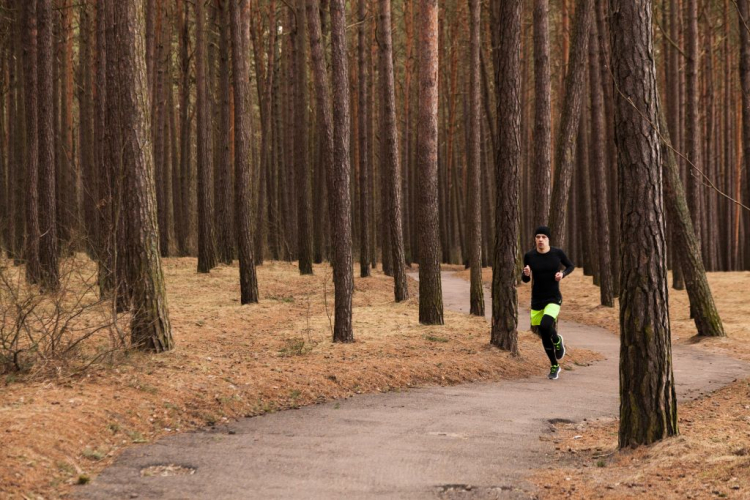
<svg viewBox="0 0 750 500">
<path fill-rule="evenodd" d="M 25 6 L 24 32 L 24 94 L 26 113 L 26 279 L 38 283 L 41 279 L 39 262 L 39 135 L 37 80 L 37 0 Z"/>
</svg>

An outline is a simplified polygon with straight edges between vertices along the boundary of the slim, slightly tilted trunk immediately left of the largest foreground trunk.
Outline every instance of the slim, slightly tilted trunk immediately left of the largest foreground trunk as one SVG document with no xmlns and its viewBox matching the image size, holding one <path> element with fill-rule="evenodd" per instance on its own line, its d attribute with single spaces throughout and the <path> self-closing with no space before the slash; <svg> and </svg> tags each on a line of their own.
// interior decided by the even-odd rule
<svg viewBox="0 0 750 500">
<path fill-rule="evenodd" d="M 593 179 L 594 212 L 597 214 L 596 242 L 599 254 L 599 296 L 603 306 L 614 307 L 612 268 L 610 265 L 609 200 L 607 196 L 606 149 L 607 131 L 604 124 L 604 92 L 599 66 L 599 34 L 597 24 L 591 24 L 589 40 L 589 88 L 591 92 L 591 173 Z"/>
</svg>

